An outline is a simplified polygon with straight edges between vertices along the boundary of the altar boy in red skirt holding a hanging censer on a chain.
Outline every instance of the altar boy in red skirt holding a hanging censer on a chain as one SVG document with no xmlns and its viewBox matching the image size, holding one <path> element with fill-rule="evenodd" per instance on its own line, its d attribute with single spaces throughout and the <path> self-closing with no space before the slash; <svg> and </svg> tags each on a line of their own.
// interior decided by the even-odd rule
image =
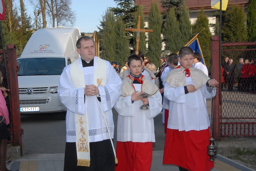
<svg viewBox="0 0 256 171">
<path fill-rule="evenodd" d="M 164 95 L 170 100 L 163 164 L 179 166 L 180 171 L 208 171 L 214 167 L 207 155 L 210 121 L 205 98 L 215 96 L 215 79 L 191 67 L 193 50 L 180 50 L 180 66 L 165 78 Z"/>
</svg>

